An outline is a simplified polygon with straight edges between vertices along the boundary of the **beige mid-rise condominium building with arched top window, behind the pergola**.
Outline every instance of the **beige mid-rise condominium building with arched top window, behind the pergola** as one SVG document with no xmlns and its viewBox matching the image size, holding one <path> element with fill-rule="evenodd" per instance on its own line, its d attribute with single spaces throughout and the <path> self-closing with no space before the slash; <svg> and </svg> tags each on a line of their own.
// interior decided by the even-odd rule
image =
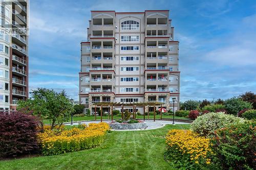
<svg viewBox="0 0 256 170">
<path fill-rule="evenodd" d="M 169 110 L 176 98 L 177 110 L 179 42 L 171 23 L 169 10 L 91 11 L 88 40 L 81 42 L 79 102 L 91 113 L 96 102 L 157 101 Z"/>
</svg>

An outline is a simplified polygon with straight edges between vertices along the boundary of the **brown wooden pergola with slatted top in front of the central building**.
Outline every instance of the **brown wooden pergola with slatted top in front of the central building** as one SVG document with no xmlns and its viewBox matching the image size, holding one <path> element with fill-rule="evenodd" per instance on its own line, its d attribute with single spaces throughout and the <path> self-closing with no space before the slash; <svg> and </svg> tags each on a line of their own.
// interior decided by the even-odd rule
<svg viewBox="0 0 256 170">
<path fill-rule="evenodd" d="M 164 103 L 161 102 L 136 102 L 136 103 L 116 103 L 116 102 L 98 102 L 94 103 L 95 106 L 95 121 L 97 120 L 96 117 L 96 110 L 97 107 L 100 107 L 100 122 L 102 122 L 102 107 L 108 107 L 109 119 L 110 119 L 110 107 L 111 107 L 111 120 L 113 121 L 113 106 L 121 107 L 122 109 L 122 119 L 123 119 L 123 107 L 133 107 L 133 118 L 136 119 L 136 107 L 142 106 L 143 107 L 143 119 L 145 120 L 145 106 L 153 106 L 154 107 L 154 122 L 156 121 L 156 106 L 161 106 L 160 112 L 160 119 L 162 119 L 162 105 Z M 147 119 L 149 119 L 150 115 L 147 112 Z"/>
</svg>

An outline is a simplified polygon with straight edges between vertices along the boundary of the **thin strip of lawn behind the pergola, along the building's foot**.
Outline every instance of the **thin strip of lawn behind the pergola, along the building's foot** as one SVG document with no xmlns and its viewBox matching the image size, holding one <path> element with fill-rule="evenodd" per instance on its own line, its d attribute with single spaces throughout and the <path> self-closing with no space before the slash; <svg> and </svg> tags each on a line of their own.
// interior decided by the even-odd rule
<svg viewBox="0 0 256 170">
<path fill-rule="evenodd" d="M 113 116 L 113 119 L 120 119 L 121 116 Z M 143 115 L 137 115 L 136 118 L 143 118 Z M 150 118 L 154 118 L 154 115 L 150 115 Z M 162 118 L 173 118 L 172 115 L 162 115 Z M 177 119 L 188 119 L 185 117 L 178 117 L 175 116 Z M 100 120 L 100 116 L 97 116 L 97 119 Z M 102 116 L 102 119 L 108 119 L 108 116 Z M 111 116 L 110 116 L 111 119 Z M 145 115 L 145 119 L 147 119 L 147 115 Z M 160 119 L 160 115 L 156 115 L 156 119 Z M 95 120 L 94 116 L 83 116 L 83 117 L 73 117 L 73 121 L 82 121 L 82 120 Z M 50 121 L 48 119 L 44 119 L 42 121 L 44 124 L 50 124 Z M 71 122 L 71 118 L 69 119 L 69 122 Z"/>
</svg>

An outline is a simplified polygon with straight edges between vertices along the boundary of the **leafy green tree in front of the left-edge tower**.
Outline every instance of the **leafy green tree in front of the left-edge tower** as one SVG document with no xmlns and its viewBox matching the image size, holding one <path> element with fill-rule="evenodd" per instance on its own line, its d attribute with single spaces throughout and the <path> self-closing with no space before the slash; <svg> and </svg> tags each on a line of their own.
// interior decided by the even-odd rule
<svg viewBox="0 0 256 170">
<path fill-rule="evenodd" d="M 63 91 L 62 91 L 63 92 Z M 17 110 L 33 111 L 33 115 L 48 118 L 51 129 L 67 121 L 72 112 L 73 105 L 63 93 L 46 88 L 37 88 L 30 92 L 31 98 L 19 101 Z"/>
</svg>

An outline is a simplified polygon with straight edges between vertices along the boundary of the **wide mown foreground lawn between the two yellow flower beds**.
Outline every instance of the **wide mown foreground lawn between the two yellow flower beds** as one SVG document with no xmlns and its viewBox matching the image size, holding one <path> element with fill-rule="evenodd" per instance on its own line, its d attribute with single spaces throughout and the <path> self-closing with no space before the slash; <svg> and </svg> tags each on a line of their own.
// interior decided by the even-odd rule
<svg viewBox="0 0 256 170">
<path fill-rule="evenodd" d="M 0 169 L 174 169 L 163 158 L 165 134 L 189 125 L 146 131 L 112 131 L 101 147 L 56 156 L 0 161 Z"/>
</svg>

